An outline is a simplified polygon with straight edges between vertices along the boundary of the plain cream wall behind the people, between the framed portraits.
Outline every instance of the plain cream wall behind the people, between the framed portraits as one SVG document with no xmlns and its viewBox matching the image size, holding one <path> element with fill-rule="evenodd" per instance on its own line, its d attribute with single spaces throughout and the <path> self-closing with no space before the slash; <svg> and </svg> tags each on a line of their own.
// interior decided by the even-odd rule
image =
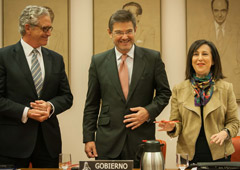
<svg viewBox="0 0 240 170">
<path fill-rule="evenodd" d="M 184 79 L 186 56 L 185 0 L 162 0 L 161 7 L 161 53 L 172 88 Z M 0 9 L 2 9 L 1 3 Z M 87 92 L 88 67 L 93 51 L 92 1 L 71 0 L 70 11 L 70 82 L 74 103 L 70 110 L 59 116 L 59 120 L 63 152 L 71 153 L 73 163 L 78 163 L 80 160 L 88 159 L 82 144 L 82 117 Z M 1 15 L 0 12 L 0 19 Z M 0 21 L 0 32 L 2 32 L 1 29 L 2 22 Z M 0 40 L 2 40 L 1 34 Z M 169 112 L 170 106 L 168 105 L 157 119 L 168 119 Z M 174 168 L 176 139 L 170 139 L 165 132 L 157 132 L 156 134 L 158 139 L 167 142 L 166 168 Z"/>
</svg>

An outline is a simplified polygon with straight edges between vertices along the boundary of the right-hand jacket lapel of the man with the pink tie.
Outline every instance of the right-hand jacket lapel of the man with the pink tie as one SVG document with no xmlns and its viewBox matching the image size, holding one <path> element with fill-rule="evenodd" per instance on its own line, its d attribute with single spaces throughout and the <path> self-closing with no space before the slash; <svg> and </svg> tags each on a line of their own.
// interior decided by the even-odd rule
<svg viewBox="0 0 240 170">
<path fill-rule="evenodd" d="M 144 52 L 139 47 L 135 46 L 132 79 L 129 87 L 127 100 L 129 100 L 133 95 L 133 92 L 142 76 L 144 69 L 145 69 Z"/>
</svg>

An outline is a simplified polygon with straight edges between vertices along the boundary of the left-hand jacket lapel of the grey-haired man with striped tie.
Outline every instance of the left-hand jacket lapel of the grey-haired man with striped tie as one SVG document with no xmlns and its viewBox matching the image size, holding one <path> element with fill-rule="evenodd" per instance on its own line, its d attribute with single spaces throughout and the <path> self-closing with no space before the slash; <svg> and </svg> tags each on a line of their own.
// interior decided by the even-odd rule
<svg viewBox="0 0 240 170">
<path fill-rule="evenodd" d="M 16 44 L 15 47 L 16 48 L 14 49 L 14 53 L 15 53 L 14 57 L 16 59 L 16 62 L 18 63 L 20 70 L 25 75 L 26 81 L 30 84 L 31 89 L 34 91 L 35 95 L 37 96 L 37 91 L 35 89 L 35 85 L 33 82 L 32 73 L 29 69 L 29 65 L 27 63 L 27 59 L 24 54 L 20 41 Z"/>
</svg>

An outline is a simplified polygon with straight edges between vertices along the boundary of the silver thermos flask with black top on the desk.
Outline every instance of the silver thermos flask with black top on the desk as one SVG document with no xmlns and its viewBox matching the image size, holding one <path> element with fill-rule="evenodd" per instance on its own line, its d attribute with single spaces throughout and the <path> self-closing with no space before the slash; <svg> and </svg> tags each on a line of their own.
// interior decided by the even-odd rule
<svg viewBox="0 0 240 170">
<path fill-rule="evenodd" d="M 160 144 L 160 142 L 156 140 L 147 140 L 142 145 L 141 170 L 164 170 L 165 162 L 161 151 L 163 145 L 164 144 Z"/>
</svg>

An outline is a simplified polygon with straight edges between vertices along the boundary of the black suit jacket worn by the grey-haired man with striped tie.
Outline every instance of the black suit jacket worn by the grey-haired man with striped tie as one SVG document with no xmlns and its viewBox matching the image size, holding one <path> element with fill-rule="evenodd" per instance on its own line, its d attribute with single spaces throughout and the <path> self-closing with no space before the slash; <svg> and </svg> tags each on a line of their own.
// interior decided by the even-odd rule
<svg viewBox="0 0 240 170">
<path fill-rule="evenodd" d="M 42 55 L 45 79 L 38 98 L 21 43 L 0 49 L 0 155 L 29 157 L 37 140 L 39 126 L 50 155 L 57 157 L 61 152 L 56 115 L 71 107 L 73 96 L 62 56 L 44 47 Z M 54 114 L 42 123 L 30 118 L 27 123 L 22 123 L 24 108 L 39 99 L 50 101 L 55 107 Z"/>
</svg>

